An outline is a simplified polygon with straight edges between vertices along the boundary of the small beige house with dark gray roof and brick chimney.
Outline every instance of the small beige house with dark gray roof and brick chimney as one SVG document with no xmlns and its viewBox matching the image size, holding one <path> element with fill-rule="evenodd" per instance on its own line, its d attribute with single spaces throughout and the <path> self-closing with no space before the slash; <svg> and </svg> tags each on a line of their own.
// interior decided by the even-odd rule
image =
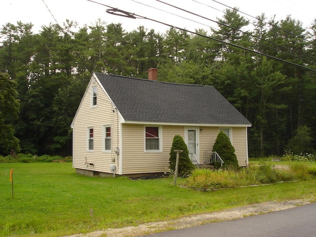
<svg viewBox="0 0 316 237">
<path fill-rule="evenodd" d="M 94 73 L 73 119 L 73 167 L 85 175 L 144 175 L 163 172 L 175 135 L 204 163 L 219 131 L 248 165 L 244 118 L 213 86 Z"/>
</svg>

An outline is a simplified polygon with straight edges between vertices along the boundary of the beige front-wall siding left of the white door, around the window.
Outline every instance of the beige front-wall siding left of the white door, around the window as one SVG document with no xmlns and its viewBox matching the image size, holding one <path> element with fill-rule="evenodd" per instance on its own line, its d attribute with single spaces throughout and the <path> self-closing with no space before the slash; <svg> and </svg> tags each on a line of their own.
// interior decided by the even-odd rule
<svg viewBox="0 0 316 237">
<path fill-rule="evenodd" d="M 155 125 L 150 125 L 155 126 Z M 163 172 L 169 166 L 169 153 L 175 135 L 184 136 L 183 126 L 160 126 L 162 152 L 144 151 L 144 125 L 122 124 L 122 174 Z"/>
</svg>

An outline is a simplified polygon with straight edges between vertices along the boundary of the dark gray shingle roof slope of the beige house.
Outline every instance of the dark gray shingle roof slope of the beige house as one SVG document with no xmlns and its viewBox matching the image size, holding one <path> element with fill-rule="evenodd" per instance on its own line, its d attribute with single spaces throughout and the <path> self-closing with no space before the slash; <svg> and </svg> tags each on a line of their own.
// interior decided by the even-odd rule
<svg viewBox="0 0 316 237">
<path fill-rule="evenodd" d="M 125 121 L 251 125 L 213 86 L 95 75 Z"/>
</svg>

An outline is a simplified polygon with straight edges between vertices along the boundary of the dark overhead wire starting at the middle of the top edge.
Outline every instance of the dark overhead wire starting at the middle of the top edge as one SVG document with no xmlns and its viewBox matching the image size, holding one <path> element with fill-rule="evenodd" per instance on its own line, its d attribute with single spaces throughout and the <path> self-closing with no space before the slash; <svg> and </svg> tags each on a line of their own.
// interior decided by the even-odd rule
<svg viewBox="0 0 316 237">
<path fill-rule="evenodd" d="M 245 34 L 245 35 L 247 35 L 247 36 L 250 36 L 250 37 L 253 37 L 253 38 L 256 38 L 256 39 L 259 39 L 259 40 L 263 40 L 263 41 L 266 41 L 266 42 L 269 42 L 269 43 L 272 43 L 272 44 L 275 44 L 276 46 L 279 46 L 279 47 L 286 48 L 286 47 L 284 47 L 284 46 L 281 46 L 281 45 L 278 45 L 278 44 L 276 44 L 276 43 L 270 42 L 269 40 L 261 39 L 260 37 L 257 37 L 257 36 L 254 36 L 254 35 L 250 34 L 250 33 L 247 33 L 247 32 L 244 32 L 244 31 L 241 31 L 241 30 L 239 30 L 239 29 L 237 29 L 237 28 L 234 28 L 234 27 L 228 26 L 228 25 L 226 25 L 226 24 L 224 24 L 224 23 L 221 23 L 221 22 L 218 22 L 218 21 L 215 21 L 215 20 L 209 19 L 209 18 L 207 18 L 207 17 L 201 16 L 201 15 L 199 15 L 199 14 L 197 14 L 197 13 L 194 13 L 194 12 L 188 11 L 188 10 L 183 9 L 183 8 L 181 8 L 181 7 L 177 7 L 177 6 L 175 6 L 175 5 L 169 4 L 169 3 L 164 2 L 164 1 L 161 1 L 161 0 L 156 0 L 156 1 L 161 2 L 161 3 L 163 3 L 163 4 L 166 4 L 166 5 L 168 5 L 168 6 L 174 7 L 174 8 L 176 8 L 176 9 L 178 9 L 178 10 L 185 11 L 185 12 L 190 13 L 190 14 L 192 14 L 192 15 L 195 15 L 195 16 L 198 16 L 198 17 L 201 17 L 201 18 L 203 18 L 203 19 L 206 19 L 206 20 L 212 21 L 212 22 L 217 23 L 217 24 L 219 24 L 219 25 L 221 25 L 221 26 L 225 26 L 225 27 L 231 28 L 231 29 L 233 29 L 233 30 L 235 30 L 235 31 L 238 31 L 238 32 L 241 32 L 241 33 L 243 33 L 243 34 Z M 252 42 L 254 42 L 254 41 L 252 41 Z M 269 45 L 265 45 L 265 44 L 262 44 L 262 43 L 260 43 L 260 42 L 258 42 L 258 43 L 259 43 L 259 44 L 261 44 L 261 45 L 263 45 L 263 46 L 265 46 L 265 47 L 269 47 L 269 48 L 272 48 L 272 49 L 275 49 L 275 50 L 279 51 L 278 49 L 276 49 L 276 48 L 274 48 L 274 47 L 271 47 L 271 46 L 269 46 Z M 288 48 L 286 48 L 286 49 L 288 49 Z M 292 53 L 285 52 L 285 51 L 282 51 L 282 50 L 280 50 L 280 51 L 281 51 L 281 52 L 283 52 L 283 53 L 285 53 L 285 54 L 289 54 L 289 55 L 291 55 L 291 56 L 294 56 L 294 57 L 297 57 L 297 58 L 300 58 L 300 59 L 306 60 L 306 61 L 311 62 L 311 63 L 314 63 L 314 61 L 311 61 L 311 60 L 308 60 L 308 59 L 306 59 L 306 58 L 303 58 L 303 57 L 300 57 L 300 56 L 294 55 L 294 54 L 292 54 Z M 315 60 L 316 60 L 316 58 L 313 58 L 313 59 L 315 59 Z"/>
</svg>

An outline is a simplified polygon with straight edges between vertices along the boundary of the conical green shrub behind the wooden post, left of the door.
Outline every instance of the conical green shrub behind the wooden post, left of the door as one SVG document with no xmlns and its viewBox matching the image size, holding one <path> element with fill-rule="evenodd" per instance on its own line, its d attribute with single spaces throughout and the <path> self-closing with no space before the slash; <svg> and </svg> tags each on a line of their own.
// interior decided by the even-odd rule
<svg viewBox="0 0 316 237">
<path fill-rule="evenodd" d="M 183 152 L 179 154 L 178 176 L 189 176 L 192 173 L 192 170 L 195 169 L 195 166 L 189 158 L 188 147 L 180 135 L 174 136 L 172 147 L 170 149 L 169 168 L 175 171 L 177 153 L 173 150 L 183 150 Z"/>
</svg>

